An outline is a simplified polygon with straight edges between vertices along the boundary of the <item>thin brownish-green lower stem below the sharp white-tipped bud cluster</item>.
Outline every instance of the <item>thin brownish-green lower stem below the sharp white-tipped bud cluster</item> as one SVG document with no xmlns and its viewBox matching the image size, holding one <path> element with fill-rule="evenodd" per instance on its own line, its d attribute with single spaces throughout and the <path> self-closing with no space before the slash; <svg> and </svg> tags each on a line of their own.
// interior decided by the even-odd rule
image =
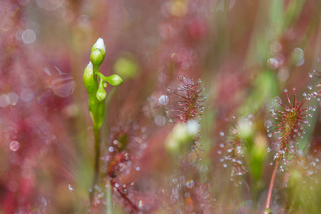
<svg viewBox="0 0 321 214">
<path fill-rule="evenodd" d="M 101 157 L 101 129 L 93 128 L 93 138 L 95 140 L 95 170 L 93 172 L 93 186 L 91 188 L 91 203 L 93 203 L 93 195 L 95 192 L 95 185 L 98 182 L 99 175 L 99 161 Z"/>
</svg>

